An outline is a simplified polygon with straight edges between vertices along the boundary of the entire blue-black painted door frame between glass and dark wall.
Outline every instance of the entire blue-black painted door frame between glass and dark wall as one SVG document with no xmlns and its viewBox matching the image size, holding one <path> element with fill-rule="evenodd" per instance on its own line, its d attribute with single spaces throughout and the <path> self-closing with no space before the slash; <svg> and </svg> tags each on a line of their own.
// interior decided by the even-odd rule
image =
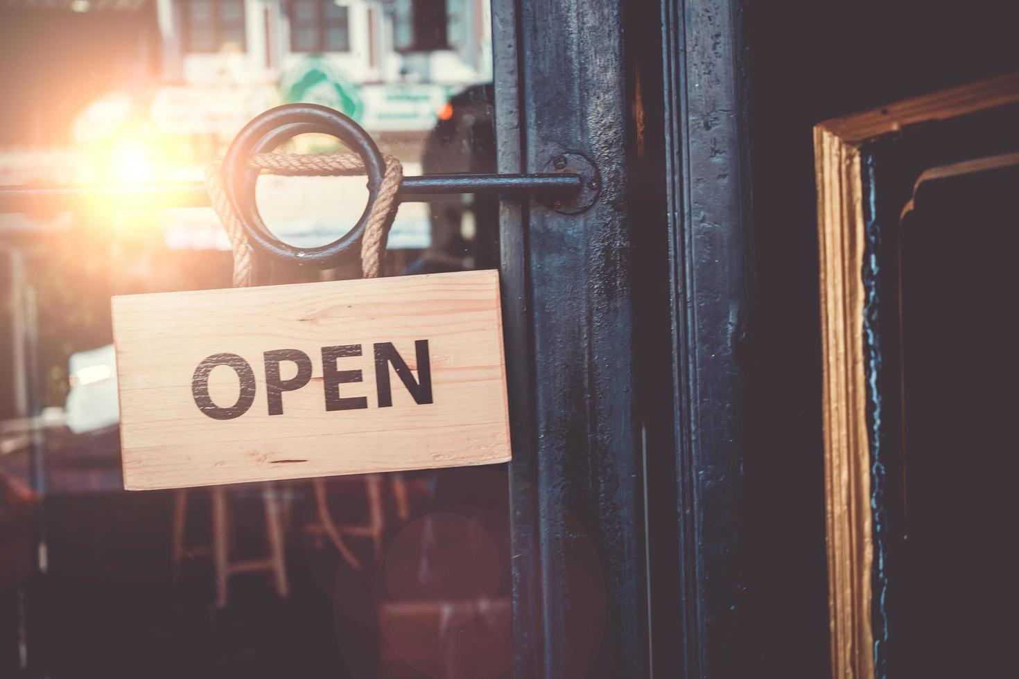
<svg viewBox="0 0 1019 679">
<path fill-rule="evenodd" d="M 602 177 L 500 212 L 521 678 L 743 674 L 742 5 L 644 4 L 492 2 L 499 172 Z"/>
</svg>

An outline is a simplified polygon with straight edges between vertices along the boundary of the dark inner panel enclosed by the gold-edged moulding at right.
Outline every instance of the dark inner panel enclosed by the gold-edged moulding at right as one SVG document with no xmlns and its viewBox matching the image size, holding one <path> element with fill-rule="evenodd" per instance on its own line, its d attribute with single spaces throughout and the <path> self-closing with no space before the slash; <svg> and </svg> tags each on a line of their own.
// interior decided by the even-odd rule
<svg viewBox="0 0 1019 679">
<path fill-rule="evenodd" d="M 1009 665 L 1019 167 L 921 184 L 903 224 L 900 676 Z"/>
</svg>

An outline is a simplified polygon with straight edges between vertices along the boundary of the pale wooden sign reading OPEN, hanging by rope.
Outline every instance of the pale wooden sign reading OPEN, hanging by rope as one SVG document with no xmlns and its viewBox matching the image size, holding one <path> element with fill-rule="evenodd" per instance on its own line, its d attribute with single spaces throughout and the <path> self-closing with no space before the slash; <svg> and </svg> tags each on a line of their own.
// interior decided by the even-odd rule
<svg viewBox="0 0 1019 679">
<path fill-rule="evenodd" d="M 124 488 L 509 459 L 498 274 L 113 298 Z"/>
</svg>

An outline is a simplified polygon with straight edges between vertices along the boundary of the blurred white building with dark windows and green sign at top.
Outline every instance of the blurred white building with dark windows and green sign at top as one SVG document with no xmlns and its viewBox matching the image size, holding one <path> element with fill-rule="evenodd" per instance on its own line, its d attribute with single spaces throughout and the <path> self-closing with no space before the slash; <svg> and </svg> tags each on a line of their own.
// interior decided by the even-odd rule
<svg viewBox="0 0 1019 679">
<path fill-rule="evenodd" d="M 153 116 L 170 127 L 204 118 L 208 129 L 221 111 L 254 115 L 254 100 L 276 97 L 373 132 L 425 131 L 449 96 L 491 79 L 482 0 L 156 0 L 156 15 L 171 90 Z"/>
</svg>

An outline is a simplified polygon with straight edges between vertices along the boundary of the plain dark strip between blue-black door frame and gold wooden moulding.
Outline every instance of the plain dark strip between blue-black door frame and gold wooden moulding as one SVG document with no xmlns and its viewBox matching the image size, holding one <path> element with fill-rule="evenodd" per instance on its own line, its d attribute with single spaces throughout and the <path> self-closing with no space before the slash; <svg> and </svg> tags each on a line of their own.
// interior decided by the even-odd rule
<svg viewBox="0 0 1019 679">
<path fill-rule="evenodd" d="M 736 3 L 739 5 L 739 3 Z M 748 0 L 747 676 L 829 675 L 812 126 L 1019 70 L 1010 2 Z"/>
</svg>

